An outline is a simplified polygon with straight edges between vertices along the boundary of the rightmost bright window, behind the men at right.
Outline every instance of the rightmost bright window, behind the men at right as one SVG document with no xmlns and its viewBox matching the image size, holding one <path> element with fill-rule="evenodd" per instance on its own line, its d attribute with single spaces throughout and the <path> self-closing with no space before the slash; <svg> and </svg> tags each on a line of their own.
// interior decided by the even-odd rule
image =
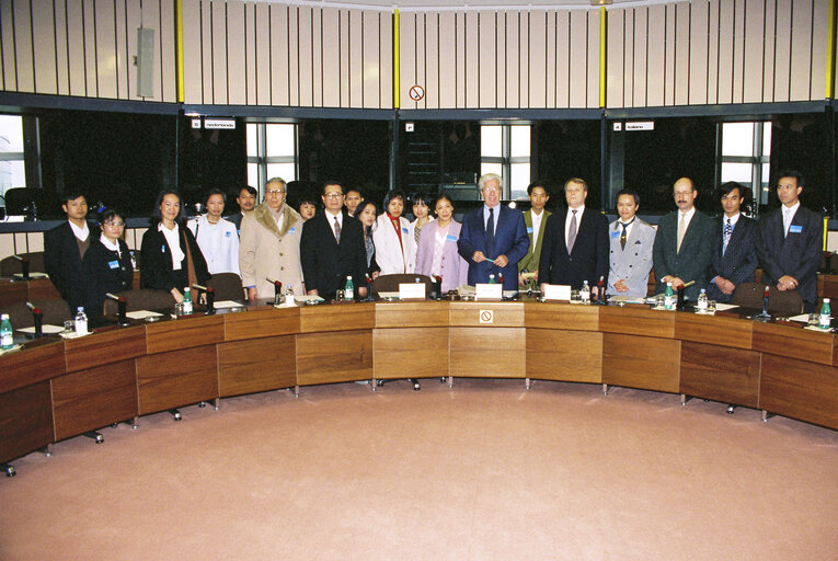
<svg viewBox="0 0 838 561">
<path fill-rule="evenodd" d="M 750 187 L 758 204 L 769 201 L 771 122 L 722 123 L 719 183 L 735 181 Z"/>
</svg>

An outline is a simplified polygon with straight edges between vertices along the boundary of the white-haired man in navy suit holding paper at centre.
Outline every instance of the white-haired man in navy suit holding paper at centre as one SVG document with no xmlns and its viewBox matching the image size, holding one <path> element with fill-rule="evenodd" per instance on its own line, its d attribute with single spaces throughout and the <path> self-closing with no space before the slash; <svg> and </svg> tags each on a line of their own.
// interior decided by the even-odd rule
<svg viewBox="0 0 838 561">
<path fill-rule="evenodd" d="M 483 206 L 462 217 L 457 251 L 469 264 L 469 285 L 504 277 L 504 290 L 518 286 L 518 261 L 527 254 L 529 237 L 524 215 L 501 206 L 501 176 L 486 173 L 478 181 Z"/>
</svg>

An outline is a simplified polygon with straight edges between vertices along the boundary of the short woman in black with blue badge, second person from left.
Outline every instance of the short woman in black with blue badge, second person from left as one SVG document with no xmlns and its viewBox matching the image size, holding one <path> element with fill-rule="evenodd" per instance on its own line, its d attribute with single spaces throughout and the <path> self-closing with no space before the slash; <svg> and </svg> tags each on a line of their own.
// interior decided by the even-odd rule
<svg viewBox="0 0 838 561">
<path fill-rule="evenodd" d="M 82 260 L 84 310 L 90 318 L 103 314 L 107 293 L 130 290 L 134 283 L 130 251 L 122 239 L 125 217 L 110 208 L 100 216 L 99 229 L 101 236 L 91 240 Z"/>
</svg>

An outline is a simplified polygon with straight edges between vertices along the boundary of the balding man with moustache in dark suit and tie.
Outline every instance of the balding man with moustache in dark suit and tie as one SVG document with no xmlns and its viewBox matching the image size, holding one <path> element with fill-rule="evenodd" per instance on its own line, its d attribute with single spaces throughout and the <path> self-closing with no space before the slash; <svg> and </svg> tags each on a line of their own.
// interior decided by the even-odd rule
<svg viewBox="0 0 838 561">
<path fill-rule="evenodd" d="M 696 209 L 698 190 L 689 178 L 673 185 L 678 210 L 661 218 L 655 236 L 654 268 L 657 284 L 655 293 L 666 290 L 666 283 L 678 289 L 691 280 L 686 297 L 692 301 L 707 286 L 707 270 L 713 253 L 713 219 Z"/>
</svg>

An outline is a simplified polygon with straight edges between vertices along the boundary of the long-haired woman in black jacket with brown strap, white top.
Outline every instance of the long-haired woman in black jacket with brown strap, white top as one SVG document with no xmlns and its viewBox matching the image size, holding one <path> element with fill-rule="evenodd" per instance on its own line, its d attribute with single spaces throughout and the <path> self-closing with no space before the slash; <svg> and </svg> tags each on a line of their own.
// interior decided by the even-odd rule
<svg viewBox="0 0 838 561">
<path fill-rule="evenodd" d="M 182 302 L 184 287 L 205 285 L 209 276 L 204 254 L 186 228 L 181 195 L 173 190 L 161 191 L 151 213 L 151 227 L 142 234 L 140 288 L 168 290 Z"/>
</svg>

